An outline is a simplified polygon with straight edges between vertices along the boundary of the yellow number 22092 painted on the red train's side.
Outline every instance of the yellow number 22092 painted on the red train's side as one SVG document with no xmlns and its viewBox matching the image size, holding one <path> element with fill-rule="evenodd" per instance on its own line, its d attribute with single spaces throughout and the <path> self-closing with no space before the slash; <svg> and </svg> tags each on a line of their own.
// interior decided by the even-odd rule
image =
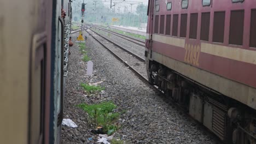
<svg viewBox="0 0 256 144">
<path fill-rule="evenodd" d="M 199 66 L 200 45 L 185 44 L 184 61 Z"/>
</svg>

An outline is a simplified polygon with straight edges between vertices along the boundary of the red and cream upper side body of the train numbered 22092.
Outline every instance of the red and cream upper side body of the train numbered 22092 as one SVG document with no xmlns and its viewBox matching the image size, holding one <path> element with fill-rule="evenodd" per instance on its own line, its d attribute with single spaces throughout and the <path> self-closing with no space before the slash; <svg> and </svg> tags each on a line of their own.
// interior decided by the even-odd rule
<svg viewBox="0 0 256 144">
<path fill-rule="evenodd" d="M 167 65 L 169 68 L 178 71 L 190 79 L 214 89 L 230 98 L 241 101 L 253 109 L 256 109 L 256 51 L 249 48 L 249 31 L 252 9 L 256 8 L 256 3 L 253 1 L 244 1 L 243 3 L 232 3 L 232 1 L 212 1 L 213 6 L 202 7 L 201 1 L 189 1 L 188 8 L 182 9 L 179 1 L 172 1 L 172 10 L 166 10 L 165 1 L 155 1 L 155 5 L 160 5 L 159 11 L 154 11 L 154 28 L 158 23 L 158 29 L 153 34 L 153 60 L 161 64 Z M 230 10 L 226 10 L 228 7 Z M 229 25 L 230 11 L 234 10 L 245 11 L 245 22 L 243 31 L 243 45 L 229 44 Z M 216 11 L 226 11 L 224 16 L 225 30 L 223 43 L 216 43 L 213 38 L 214 14 Z M 202 13 L 210 13 L 210 28 L 208 41 L 201 40 L 201 17 Z M 161 15 L 171 15 L 171 34 L 160 34 Z M 174 16 L 178 14 L 178 26 L 174 22 Z M 187 14 L 187 33 L 186 37 L 181 37 L 181 14 Z M 191 19 L 191 16 L 196 14 L 197 21 Z M 155 22 L 155 17 L 158 16 L 158 22 Z M 221 15 L 220 15 L 221 16 Z M 166 16 L 165 16 L 166 17 Z M 166 22 L 166 21 L 165 21 Z M 190 27 L 193 28 L 193 22 L 196 23 L 196 31 L 190 32 Z M 192 24 L 191 24 L 192 23 Z M 173 34 L 173 29 L 177 28 L 177 36 Z M 183 27 L 184 28 L 184 27 Z M 193 34 L 195 35 L 195 38 Z M 247 39 L 246 39 L 247 38 Z"/>
</svg>

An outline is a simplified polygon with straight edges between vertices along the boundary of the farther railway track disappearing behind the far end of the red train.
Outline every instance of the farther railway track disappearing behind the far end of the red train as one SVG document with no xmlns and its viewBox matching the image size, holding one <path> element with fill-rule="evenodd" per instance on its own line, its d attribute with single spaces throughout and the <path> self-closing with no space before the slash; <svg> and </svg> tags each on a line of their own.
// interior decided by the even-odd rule
<svg viewBox="0 0 256 144">
<path fill-rule="evenodd" d="M 95 27 L 95 28 L 100 29 L 101 31 L 104 31 L 104 32 L 116 35 L 117 37 L 120 37 L 120 38 L 123 38 L 125 40 L 128 40 L 128 41 L 130 41 L 130 42 L 132 42 L 134 44 L 137 44 L 139 46 L 143 46 L 143 47 L 145 46 L 145 42 L 142 41 L 142 40 L 138 40 L 136 38 L 131 38 L 131 37 L 127 36 L 127 35 L 120 34 L 120 33 L 117 33 L 117 32 L 109 31 L 108 29 L 102 28 L 102 27 L 99 27 L 99 26 L 92 26 L 92 27 Z"/>
</svg>

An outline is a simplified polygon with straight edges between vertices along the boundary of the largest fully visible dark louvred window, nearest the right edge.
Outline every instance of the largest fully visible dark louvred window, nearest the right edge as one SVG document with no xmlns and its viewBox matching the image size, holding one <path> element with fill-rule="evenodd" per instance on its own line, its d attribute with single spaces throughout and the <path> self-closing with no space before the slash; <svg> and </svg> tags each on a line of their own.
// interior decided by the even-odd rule
<svg viewBox="0 0 256 144">
<path fill-rule="evenodd" d="M 229 27 L 229 44 L 243 44 L 243 18 L 244 10 L 231 11 Z"/>
</svg>

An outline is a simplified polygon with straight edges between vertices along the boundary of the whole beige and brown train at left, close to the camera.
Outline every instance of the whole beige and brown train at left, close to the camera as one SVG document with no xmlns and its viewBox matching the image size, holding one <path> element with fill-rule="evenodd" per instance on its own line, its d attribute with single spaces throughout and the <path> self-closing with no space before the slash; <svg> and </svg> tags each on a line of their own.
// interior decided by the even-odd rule
<svg viewBox="0 0 256 144">
<path fill-rule="evenodd" d="M 72 0 L 0 1 L 0 143 L 60 143 Z"/>
</svg>

